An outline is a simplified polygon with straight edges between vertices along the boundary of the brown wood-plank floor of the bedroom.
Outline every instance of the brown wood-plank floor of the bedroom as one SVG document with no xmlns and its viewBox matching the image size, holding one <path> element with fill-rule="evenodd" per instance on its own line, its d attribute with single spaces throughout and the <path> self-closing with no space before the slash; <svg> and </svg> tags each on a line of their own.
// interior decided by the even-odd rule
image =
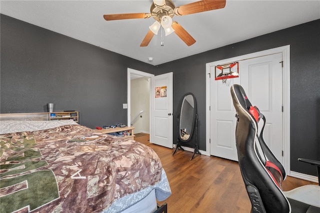
<svg viewBox="0 0 320 213">
<path fill-rule="evenodd" d="M 250 212 L 251 205 L 238 163 L 214 156 L 195 154 L 150 143 L 160 157 L 171 187 L 166 202 L 168 212 Z M 283 190 L 304 184 L 317 184 L 287 177 Z"/>
</svg>

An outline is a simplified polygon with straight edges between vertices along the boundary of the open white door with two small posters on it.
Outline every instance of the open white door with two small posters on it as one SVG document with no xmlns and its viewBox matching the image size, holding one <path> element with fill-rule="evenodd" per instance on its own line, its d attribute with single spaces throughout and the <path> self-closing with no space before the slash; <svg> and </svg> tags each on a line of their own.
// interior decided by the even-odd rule
<svg viewBox="0 0 320 213">
<path fill-rule="evenodd" d="M 150 143 L 173 147 L 173 72 L 151 77 Z"/>
</svg>

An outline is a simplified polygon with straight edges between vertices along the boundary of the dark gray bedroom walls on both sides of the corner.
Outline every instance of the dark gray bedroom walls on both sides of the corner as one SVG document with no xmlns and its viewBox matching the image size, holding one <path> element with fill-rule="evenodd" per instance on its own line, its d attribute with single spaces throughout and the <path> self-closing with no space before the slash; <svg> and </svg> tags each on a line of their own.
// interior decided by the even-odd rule
<svg viewBox="0 0 320 213">
<path fill-rule="evenodd" d="M 126 123 L 127 67 L 173 72 L 173 112 L 186 92 L 196 97 L 199 149 L 205 150 L 205 63 L 290 45 L 291 169 L 316 175 L 297 157 L 320 160 L 320 20 L 290 27 L 158 66 L 0 17 L 0 112 L 78 110 L 88 127 Z M 185 82 L 190 82 L 189 84 Z M 177 120 L 173 118 L 175 141 Z"/>
</svg>

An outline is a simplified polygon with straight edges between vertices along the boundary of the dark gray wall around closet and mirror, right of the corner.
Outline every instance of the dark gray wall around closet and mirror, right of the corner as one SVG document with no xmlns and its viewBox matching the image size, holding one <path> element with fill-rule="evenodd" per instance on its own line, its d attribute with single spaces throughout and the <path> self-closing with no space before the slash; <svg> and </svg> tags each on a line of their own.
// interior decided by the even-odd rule
<svg viewBox="0 0 320 213">
<path fill-rule="evenodd" d="M 173 113 L 179 112 L 184 93 L 195 95 L 199 149 L 206 150 L 205 64 L 284 45 L 290 45 L 291 170 L 316 175 L 314 166 L 297 158 L 320 160 L 320 19 L 157 66 L 156 75 L 173 72 Z M 176 118 L 174 138 L 175 123 Z"/>
</svg>

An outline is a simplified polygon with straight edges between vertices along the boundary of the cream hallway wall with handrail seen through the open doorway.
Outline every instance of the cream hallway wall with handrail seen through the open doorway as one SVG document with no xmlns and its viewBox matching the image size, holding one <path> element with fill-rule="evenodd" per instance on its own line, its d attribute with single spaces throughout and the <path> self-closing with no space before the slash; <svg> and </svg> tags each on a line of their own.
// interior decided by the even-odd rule
<svg viewBox="0 0 320 213">
<path fill-rule="evenodd" d="M 143 112 L 140 114 L 142 117 L 138 117 L 133 126 L 134 133 L 144 132 L 149 133 L 149 102 L 150 102 L 150 84 L 148 77 L 140 77 L 134 80 L 131 80 L 131 93 L 130 93 L 130 102 L 131 102 L 131 122 L 134 116 L 141 110 Z"/>
</svg>

